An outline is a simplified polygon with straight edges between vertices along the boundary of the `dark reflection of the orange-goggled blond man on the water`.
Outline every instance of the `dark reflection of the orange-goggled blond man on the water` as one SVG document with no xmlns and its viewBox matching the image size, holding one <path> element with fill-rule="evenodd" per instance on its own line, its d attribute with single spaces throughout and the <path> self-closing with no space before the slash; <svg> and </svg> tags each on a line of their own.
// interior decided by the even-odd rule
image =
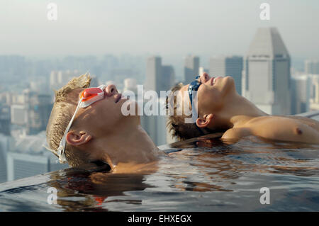
<svg viewBox="0 0 319 226">
<path fill-rule="evenodd" d="M 152 187 L 144 183 L 145 175 L 111 174 L 108 169 L 67 169 L 52 174 L 47 186 L 57 188 L 57 204 L 63 210 L 107 211 L 101 204 L 107 203 L 108 197 L 125 196 L 125 191 L 143 191 Z M 125 202 L 140 204 L 142 200 L 127 199 Z"/>
</svg>

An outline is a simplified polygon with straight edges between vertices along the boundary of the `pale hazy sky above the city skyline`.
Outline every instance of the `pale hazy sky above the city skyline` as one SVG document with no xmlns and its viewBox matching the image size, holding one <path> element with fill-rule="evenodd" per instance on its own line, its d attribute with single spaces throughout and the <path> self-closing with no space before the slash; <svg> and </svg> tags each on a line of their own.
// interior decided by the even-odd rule
<svg viewBox="0 0 319 226">
<path fill-rule="evenodd" d="M 245 55 L 260 26 L 276 26 L 291 56 L 319 58 L 318 0 L 0 0 L 0 55 Z"/>
</svg>

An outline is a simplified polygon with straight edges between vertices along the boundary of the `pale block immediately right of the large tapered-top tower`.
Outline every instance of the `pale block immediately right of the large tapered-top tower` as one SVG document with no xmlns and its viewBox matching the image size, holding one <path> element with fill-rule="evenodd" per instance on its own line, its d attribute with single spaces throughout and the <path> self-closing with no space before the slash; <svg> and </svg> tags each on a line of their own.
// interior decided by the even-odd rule
<svg viewBox="0 0 319 226">
<path fill-rule="evenodd" d="M 305 113 L 310 109 L 310 77 L 298 75 L 291 77 L 291 114 Z"/>
</svg>

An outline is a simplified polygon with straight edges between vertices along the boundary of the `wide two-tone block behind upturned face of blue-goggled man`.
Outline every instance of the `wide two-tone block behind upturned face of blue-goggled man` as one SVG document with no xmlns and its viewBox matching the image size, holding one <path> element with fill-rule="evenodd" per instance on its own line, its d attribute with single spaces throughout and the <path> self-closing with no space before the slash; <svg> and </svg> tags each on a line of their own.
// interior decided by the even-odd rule
<svg viewBox="0 0 319 226">
<path fill-rule="evenodd" d="M 209 62 L 209 73 L 211 77 L 233 77 L 233 79 L 235 80 L 237 93 L 242 95 L 242 57 L 211 57 L 211 60 Z"/>
</svg>

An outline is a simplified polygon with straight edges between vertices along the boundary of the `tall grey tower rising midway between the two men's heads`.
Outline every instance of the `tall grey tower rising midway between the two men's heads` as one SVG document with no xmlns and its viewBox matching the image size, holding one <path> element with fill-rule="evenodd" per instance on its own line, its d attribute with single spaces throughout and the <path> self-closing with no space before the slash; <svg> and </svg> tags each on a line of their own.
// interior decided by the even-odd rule
<svg viewBox="0 0 319 226">
<path fill-rule="evenodd" d="M 162 84 L 162 58 L 148 57 L 146 62 L 145 90 L 154 90 L 159 95 L 159 91 L 164 90 Z"/>
</svg>

